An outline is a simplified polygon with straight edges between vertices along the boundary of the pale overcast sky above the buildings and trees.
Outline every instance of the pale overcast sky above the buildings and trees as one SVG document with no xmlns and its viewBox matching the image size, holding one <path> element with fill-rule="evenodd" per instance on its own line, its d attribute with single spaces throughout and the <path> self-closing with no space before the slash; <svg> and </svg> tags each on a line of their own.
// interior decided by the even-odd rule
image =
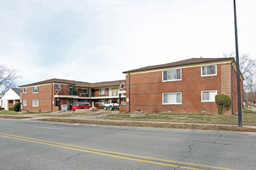
<svg viewBox="0 0 256 170">
<path fill-rule="evenodd" d="M 256 1 L 237 0 L 240 55 L 256 59 Z M 233 0 L 0 0 L 0 63 L 19 85 L 123 80 L 126 70 L 235 51 Z"/>
</svg>

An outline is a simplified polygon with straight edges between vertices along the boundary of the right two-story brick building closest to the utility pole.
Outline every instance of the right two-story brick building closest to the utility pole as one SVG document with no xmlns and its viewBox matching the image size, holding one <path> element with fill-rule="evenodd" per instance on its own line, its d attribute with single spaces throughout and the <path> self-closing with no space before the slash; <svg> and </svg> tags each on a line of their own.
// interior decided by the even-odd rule
<svg viewBox="0 0 256 170">
<path fill-rule="evenodd" d="M 234 58 L 192 58 L 125 71 L 126 106 L 119 111 L 217 114 L 215 96 L 226 94 L 232 99 L 226 113 L 236 113 L 236 70 Z M 242 81 L 240 75 L 241 89 Z"/>
</svg>

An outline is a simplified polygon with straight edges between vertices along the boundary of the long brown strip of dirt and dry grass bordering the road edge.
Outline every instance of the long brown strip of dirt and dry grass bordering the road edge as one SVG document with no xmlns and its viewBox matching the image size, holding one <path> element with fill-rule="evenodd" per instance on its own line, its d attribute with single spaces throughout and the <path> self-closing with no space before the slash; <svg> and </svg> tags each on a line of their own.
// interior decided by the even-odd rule
<svg viewBox="0 0 256 170">
<path fill-rule="evenodd" d="M 140 122 L 116 122 L 116 121 L 83 121 L 76 119 L 61 119 L 61 118 L 45 118 L 35 121 L 54 121 L 73 124 L 102 124 L 113 126 L 131 126 L 131 127 L 150 127 L 150 128 L 179 128 L 179 129 L 199 129 L 199 130 L 217 130 L 217 131 L 247 131 L 256 132 L 255 128 L 231 127 L 221 125 L 199 125 L 199 124 L 154 124 Z"/>
</svg>

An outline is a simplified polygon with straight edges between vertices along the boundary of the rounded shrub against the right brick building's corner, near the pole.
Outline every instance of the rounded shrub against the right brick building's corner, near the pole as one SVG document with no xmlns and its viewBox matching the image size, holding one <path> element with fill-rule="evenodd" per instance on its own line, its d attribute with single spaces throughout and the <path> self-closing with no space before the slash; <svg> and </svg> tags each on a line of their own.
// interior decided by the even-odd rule
<svg viewBox="0 0 256 170">
<path fill-rule="evenodd" d="M 231 99 L 227 95 L 219 94 L 215 97 L 215 102 L 218 107 L 218 114 L 223 114 L 224 110 L 227 110 L 231 106 Z"/>
</svg>

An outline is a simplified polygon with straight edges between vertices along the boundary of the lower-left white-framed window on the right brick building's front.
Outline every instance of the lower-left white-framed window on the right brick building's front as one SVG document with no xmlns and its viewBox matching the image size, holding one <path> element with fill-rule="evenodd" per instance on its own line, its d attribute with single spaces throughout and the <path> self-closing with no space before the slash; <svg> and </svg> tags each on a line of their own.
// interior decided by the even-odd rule
<svg viewBox="0 0 256 170">
<path fill-rule="evenodd" d="M 182 92 L 163 93 L 163 104 L 182 104 Z"/>
</svg>

